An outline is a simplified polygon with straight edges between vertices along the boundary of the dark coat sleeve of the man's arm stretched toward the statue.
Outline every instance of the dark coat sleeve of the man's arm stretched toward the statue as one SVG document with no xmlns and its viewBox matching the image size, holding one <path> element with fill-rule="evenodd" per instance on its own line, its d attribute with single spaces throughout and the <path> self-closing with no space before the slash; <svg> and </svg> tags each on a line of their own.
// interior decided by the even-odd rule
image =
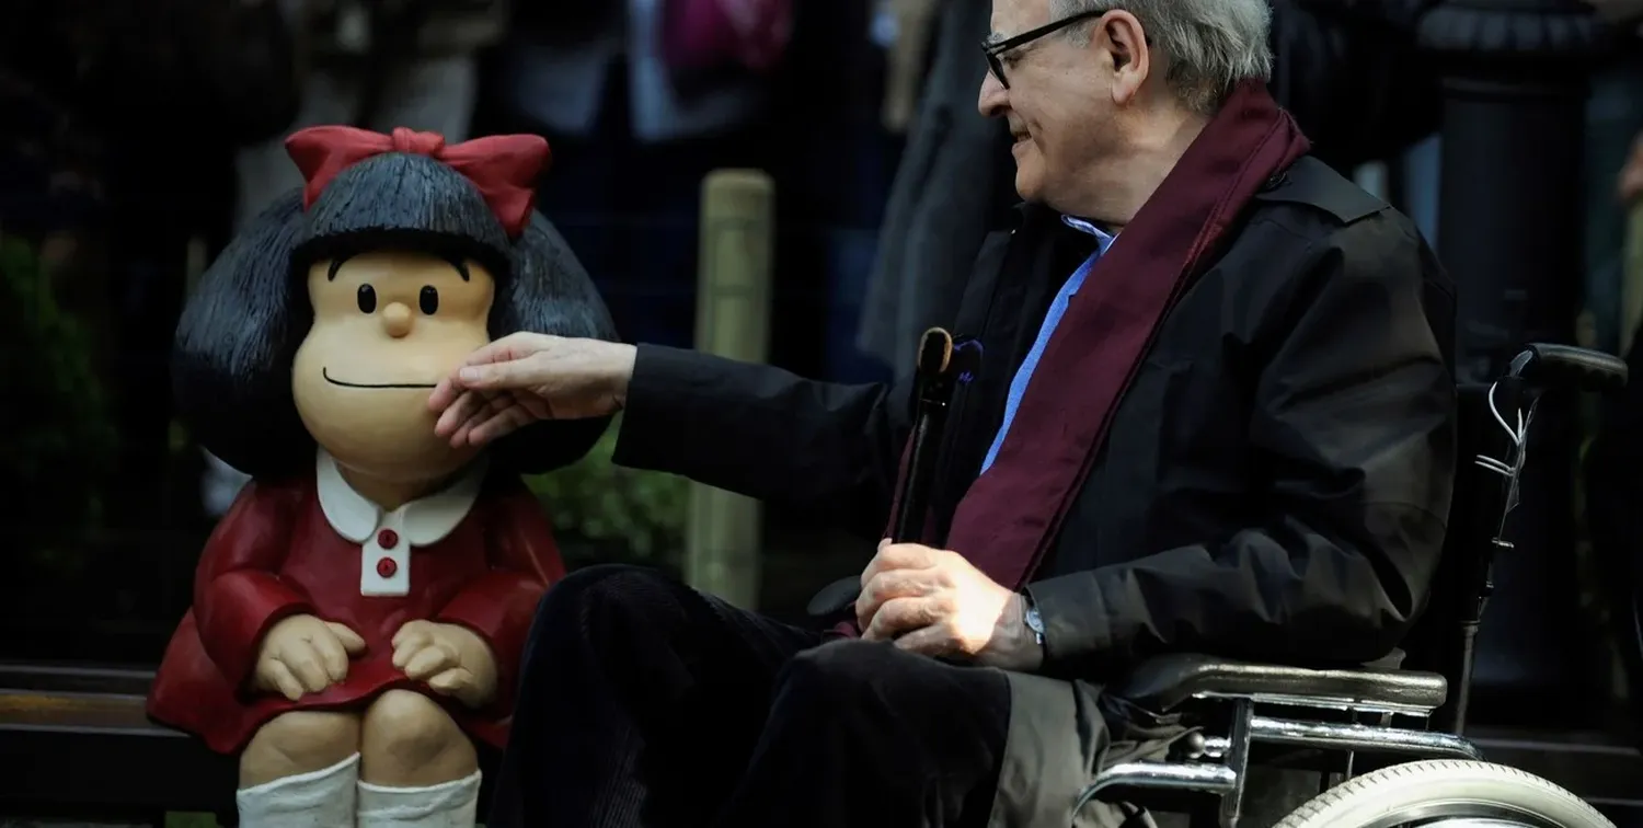
<svg viewBox="0 0 1643 828">
<path fill-rule="evenodd" d="M 641 345 L 614 462 L 683 475 L 877 537 L 910 430 L 910 381 L 838 384 Z"/>
</svg>

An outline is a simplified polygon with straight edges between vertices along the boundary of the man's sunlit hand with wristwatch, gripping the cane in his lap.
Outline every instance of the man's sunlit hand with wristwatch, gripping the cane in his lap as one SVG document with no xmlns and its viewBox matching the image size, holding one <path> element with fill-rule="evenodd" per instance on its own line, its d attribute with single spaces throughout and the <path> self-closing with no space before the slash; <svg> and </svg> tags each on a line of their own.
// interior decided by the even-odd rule
<svg viewBox="0 0 1643 828">
<path fill-rule="evenodd" d="M 971 657 L 1004 670 L 1043 664 L 1022 595 L 945 549 L 879 542 L 861 573 L 856 623 L 864 641 L 894 641 L 925 656 Z"/>
</svg>

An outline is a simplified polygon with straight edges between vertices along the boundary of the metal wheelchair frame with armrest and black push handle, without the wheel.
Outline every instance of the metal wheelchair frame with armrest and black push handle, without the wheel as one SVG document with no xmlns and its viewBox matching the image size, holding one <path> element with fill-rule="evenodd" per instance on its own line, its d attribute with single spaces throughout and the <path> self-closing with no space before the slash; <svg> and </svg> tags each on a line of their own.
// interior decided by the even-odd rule
<svg viewBox="0 0 1643 828">
<path fill-rule="evenodd" d="M 1073 813 L 1093 800 L 1134 802 L 1148 794 L 1199 794 L 1214 800 L 1213 808 L 1188 808 L 1193 826 L 1237 828 L 1245 800 L 1245 780 L 1254 746 L 1272 744 L 1316 749 L 1337 759 L 1337 770 L 1324 770 L 1321 790 L 1354 775 L 1359 754 L 1418 759 L 1482 759 L 1482 751 L 1461 733 L 1472 677 L 1472 641 L 1484 606 L 1493 590 L 1490 572 L 1495 552 L 1510 550 L 1505 540 L 1507 518 L 1516 506 L 1518 476 L 1526 458 L 1526 439 L 1541 391 L 1558 384 L 1576 384 L 1587 391 L 1613 391 L 1627 381 L 1625 363 L 1613 356 L 1567 345 L 1526 345 L 1507 371 L 1487 388 L 1472 388 L 1487 404 L 1497 429 L 1484 429 L 1485 439 L 1472 452 L 1472 463 L 1457 468 L 1456 499 L 1451 506 L 1451 540 L 1444 549 L 1444 567 L 1459 570 L 1461 595 L 1451 598 L 1451 618 L 1441 619 L 1447 629 L 1441 649 L 1441 672 L 1392 670 L 1306 670 L 1293 667 L 1254 665 L 1203 656 L 1167 656 L 1185 662 L 1188 678 L 1175 680 L 1173 690 L 1183 706 L 1219 713 L 1226 733 L 1193 739 L 1186 756 L 1171 761 L 1134 761 L 1101 769 L 1078 797 Z M 1469 391 L 1462 388 L 1462 396 Z M 1525 414 L 1525 401 L 1528 412 Z M 1516 426 L 1507 414 L 1516 412 Z M 1505 414 L 1503 414 L 1505 412 Z M 1462 437 L 1462 457 L 1466 440 Z M 1490 481 L 1490 472 L 1498 481 Z M 1470 486 L 1461 478 L 1470 475 Z M 1489 485 L 1493 483 L 1493 485 Z M 1462 490 L 1474 499 L 1464 501 Z M 1467 514 L 1470 509 L 1470 514 Z M 1459 521 L 1456 521 L 1459 518 Z M 1459 524 L 1459 536 L 1454 534 Z M 1181 664 L 1176 664 L 1180 672 Z M 1137 674 L 1157 672 L 1142 664 Z M 1132 698 L 1130 682 L 1112 688 Z M 1168 680 L 1167 680 L 1168 682 Z M 1145 683 L 1145 682 L 1144 682 Z M 1157 682 L 1153 682 L 1157 685 Z M 1308 692 L 1318 688 L 1321 692 Z M 1452 695 L 1451 695 L 1452 690 Z M 1168 705 L 1167 705 L 1168 706 Z M 1162 711 L 1162 710 L 1160 710 Z M 1308 711 L 1311 716 L 1290 718 L 1275 711 Z M 1347 721 L 1328 721 L 1347 718 Z M 1375 720 L 1365 724 L 1360 720 Z M 1397 720 L 1413 720 L 1393 726 Z M 1319 792 L 1321 792 L 1319 790 Z M 1443 816 L 1428 813 L 1423 818 Z"/>
</svg>

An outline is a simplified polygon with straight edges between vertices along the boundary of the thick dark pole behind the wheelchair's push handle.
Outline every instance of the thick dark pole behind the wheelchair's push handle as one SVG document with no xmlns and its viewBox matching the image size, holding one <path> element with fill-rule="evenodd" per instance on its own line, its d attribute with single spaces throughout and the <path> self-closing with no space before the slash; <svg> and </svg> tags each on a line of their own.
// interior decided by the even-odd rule
<svg viewBox="0 0 1643 828">
<path fill-rule="evenodd" d="M 1581 0 L 1446 0 L 1421 21 L 1444 89 L 1438 242 L 1459 289 L 1461 381 L 1497 376 L 1525 342 L 1574 340 L 1587 80 L 1602 36 Z M 1508 532 L 1516 549 L 1497 559 L 1474 674 L 1479 723 L 1576 724 L 1600 706 L 1585 695 L 1595 659 L 1576 588 L 1579 424 L 1564 398 L 1536 416 Z"/>
</svg>

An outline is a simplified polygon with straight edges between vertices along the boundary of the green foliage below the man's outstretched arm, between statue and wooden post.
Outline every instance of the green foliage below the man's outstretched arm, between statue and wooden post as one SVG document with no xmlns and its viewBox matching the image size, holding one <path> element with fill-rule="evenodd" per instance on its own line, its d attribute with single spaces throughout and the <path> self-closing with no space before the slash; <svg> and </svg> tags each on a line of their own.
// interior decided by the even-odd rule
<svg viewBox="0 0 1643 828">
<path fill-rule="evenodd" d="M 554 519 L 567 559 L 677 565 L 690 483 L 611 463 L 619 430 L 618 417 L 580 462 L 526 478 L 526 483 Z M 572 564 L 588 562 L 593 560 Z"/>
</svg>

